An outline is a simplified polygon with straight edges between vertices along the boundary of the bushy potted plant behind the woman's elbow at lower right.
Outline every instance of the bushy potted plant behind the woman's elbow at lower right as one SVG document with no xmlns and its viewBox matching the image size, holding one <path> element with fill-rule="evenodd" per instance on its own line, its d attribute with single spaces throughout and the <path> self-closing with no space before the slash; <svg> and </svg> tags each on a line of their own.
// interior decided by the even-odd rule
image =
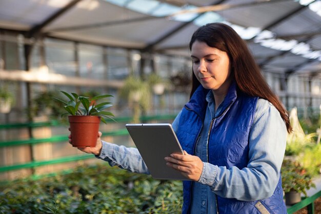
<svg viewBox="0 0 321 214">
<path fill-rule="evenodd" d="M 315 187 L 310 174 L 296 161 L 284 160 L 281 173 L 286 205 L 300 202 L 301 193 L 307 197 L 306 190 Z"/>
</svg>

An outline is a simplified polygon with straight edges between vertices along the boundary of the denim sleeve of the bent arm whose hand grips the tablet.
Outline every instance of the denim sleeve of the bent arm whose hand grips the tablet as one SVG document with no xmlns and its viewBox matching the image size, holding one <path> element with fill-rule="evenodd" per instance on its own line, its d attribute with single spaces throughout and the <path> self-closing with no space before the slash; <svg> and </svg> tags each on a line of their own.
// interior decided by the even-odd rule
<svg viewBox="0 0 321 214">
<path fill-rule="evenodd" d="M 272 196 L 280 176 L 287 129 L 277 109 L 259 99 L 249 137 L 249 163 L 227 169 L 204 163 L 198 182 L 210 185 L 220 197 L 254 201 Z"/>
</svg>

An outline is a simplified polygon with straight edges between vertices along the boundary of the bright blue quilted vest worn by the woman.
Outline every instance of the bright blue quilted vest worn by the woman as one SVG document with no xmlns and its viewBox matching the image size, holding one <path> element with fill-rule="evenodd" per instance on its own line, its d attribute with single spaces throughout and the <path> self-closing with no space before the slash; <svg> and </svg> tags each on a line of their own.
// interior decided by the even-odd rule
<svg viewBox="0 0 321 214">
<path fill-rule="evenodd" d="M 185 105 L 179 119 L 177 138 L 184 150 L 193 154 L 195 143 L 202 129 L 207 107 L 206 94 L 209 90 L 199 86 L 190 101 Z M 258 98 L 248 96 L 236 89 L 232 83 L 222 105 L 224 112 L 212 121 L 208 143 L 208 162 L 217 166 L 242 169 L 249 162 L 249 133 L 253 123 Z M 182 213 L 189 213 L 191 201 L 190 181 L 183 181 Z M 215 203 L 215 202 L 213 202 Z M 283 202 L 283 189 L 279 178 L 273 195 L 259 201 L 238 201 L 217 196 L 220 214 L 286 214 Z M 268 211 L 268 212 L 267 212 Z"/>
</svg>

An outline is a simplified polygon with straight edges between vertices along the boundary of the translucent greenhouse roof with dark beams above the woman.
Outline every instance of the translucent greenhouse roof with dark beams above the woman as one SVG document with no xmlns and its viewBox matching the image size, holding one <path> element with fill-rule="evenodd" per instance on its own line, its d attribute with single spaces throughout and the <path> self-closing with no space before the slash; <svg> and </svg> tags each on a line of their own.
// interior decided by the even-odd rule
<svg viewBox="0 0 321 214">
<path fill-rule="evenodd" d="M 231 25 L 266 72 L 320 75 L 320 0 L 2 0 L 0 29 L 189 56 L 194 30 Z"/>
</svg>

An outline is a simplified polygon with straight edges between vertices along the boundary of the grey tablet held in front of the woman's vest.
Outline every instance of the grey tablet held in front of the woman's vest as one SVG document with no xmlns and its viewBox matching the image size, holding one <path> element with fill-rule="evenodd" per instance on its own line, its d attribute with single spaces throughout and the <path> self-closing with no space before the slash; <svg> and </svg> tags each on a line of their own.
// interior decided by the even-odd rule
<svg viewBox="0 0 321 214">
<path fill-rule="evenodd" d="M 189 180 L 164 160 L 171 153 L 184 154 L 171 124 L 126 124 L 126 128 L 153 178 Z"/>
</svg>

